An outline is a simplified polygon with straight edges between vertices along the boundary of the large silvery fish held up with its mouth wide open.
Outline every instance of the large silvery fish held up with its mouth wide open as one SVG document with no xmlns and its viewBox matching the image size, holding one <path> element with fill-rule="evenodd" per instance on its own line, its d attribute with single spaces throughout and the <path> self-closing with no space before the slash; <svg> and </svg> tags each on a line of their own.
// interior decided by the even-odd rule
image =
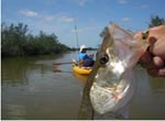
<svg viewBox="0 0 165 121">
<path fill-rule="evenodd" d="M 78 119 L 94 119 L 95 113 L 118 117 L 113 113 L 131 101 L 135 90 L 134 67 L 148 47 L 148 34 L 146 31 L 134 38 L 133 33 L 116 23 L 108 25 L 84 88 Z"/>
</svg>

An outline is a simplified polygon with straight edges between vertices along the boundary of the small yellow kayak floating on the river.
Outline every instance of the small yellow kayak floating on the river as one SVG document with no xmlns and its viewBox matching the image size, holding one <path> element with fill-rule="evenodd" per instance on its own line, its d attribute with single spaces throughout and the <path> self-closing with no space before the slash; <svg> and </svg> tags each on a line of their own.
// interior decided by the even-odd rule
<svg viewBox="0 0 165 121">
<path fill-rule="evenodd" d="M 76 65 L 73 65 L 73 70 L 76 73 L 76 74 L 79 74 L 79 75 L 89 75 L 90 72 L 91 72 L 91 68 L 82 68 L 82 67 L 79 67 L 79 66 L 76 66 Z"/>
</svg>

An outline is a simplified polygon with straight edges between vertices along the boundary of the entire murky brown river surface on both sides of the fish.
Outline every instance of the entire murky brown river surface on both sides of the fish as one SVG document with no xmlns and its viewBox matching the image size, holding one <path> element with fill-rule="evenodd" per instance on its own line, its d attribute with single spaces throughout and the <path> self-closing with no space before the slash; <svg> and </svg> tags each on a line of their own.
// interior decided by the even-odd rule
<svg viewBox="0 0 165 121">
<path fill-rule="evenodd" d="M 2 59 L 2 119 L 77 119 L 86 77 L 73 74 L 70 64 L 53 65 L 76 54 Z M 130 119 L 165 119 L 165 78 L 146 78 L 142 68 L 136 70 Z"/>
</svg>

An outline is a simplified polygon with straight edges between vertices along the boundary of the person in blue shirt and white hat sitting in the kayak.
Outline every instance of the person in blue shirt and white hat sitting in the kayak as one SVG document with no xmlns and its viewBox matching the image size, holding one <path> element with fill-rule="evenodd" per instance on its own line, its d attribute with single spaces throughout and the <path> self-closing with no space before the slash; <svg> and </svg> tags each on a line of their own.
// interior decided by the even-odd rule
<svg viewBox="0 0 165 121">
<path fill-rule="evenodd" d="M 88 55 L 87 54 L 86 45 L 81 45 L 80 46 L 77 59 L 79 62 L 79 66 L 80 67 L 92 67 L 94 63 L 95 63 L 94 55 Z M 73 62 L 75 63 L 76 61 L 73 59 Z"/>
</svg>

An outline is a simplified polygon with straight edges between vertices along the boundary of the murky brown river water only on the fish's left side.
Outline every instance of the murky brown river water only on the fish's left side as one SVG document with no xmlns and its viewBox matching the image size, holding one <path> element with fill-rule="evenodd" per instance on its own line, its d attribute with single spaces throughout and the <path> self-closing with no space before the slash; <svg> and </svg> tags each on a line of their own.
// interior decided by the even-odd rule
<svg viewBox="0 0 165 121">
<path fill-rule="evenodd" d="M 72 65 L 53 66 L 70 57 L 2 59 L 2 119 L 76 119 L 81 86 L 70 73 L 53 73 L 70 72 Z"/>
</svg>

